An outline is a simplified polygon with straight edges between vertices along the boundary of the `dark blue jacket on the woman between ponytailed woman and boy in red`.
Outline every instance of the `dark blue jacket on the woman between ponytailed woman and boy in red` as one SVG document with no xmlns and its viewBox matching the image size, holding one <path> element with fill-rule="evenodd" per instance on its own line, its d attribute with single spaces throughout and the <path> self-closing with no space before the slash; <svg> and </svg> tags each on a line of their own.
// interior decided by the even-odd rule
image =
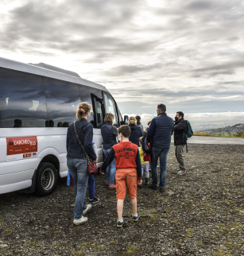
<svg viewBox="0 0 244 256">
<path fill-rule="evenodd" d="M 116 141 L 118 130 L 110 122 L 105 122 L 105 124 L 101 126 L 101 134 L 103 137 L 103 149 L 111 149 L 113 145 L 118 144 Z"/>
</svg>

